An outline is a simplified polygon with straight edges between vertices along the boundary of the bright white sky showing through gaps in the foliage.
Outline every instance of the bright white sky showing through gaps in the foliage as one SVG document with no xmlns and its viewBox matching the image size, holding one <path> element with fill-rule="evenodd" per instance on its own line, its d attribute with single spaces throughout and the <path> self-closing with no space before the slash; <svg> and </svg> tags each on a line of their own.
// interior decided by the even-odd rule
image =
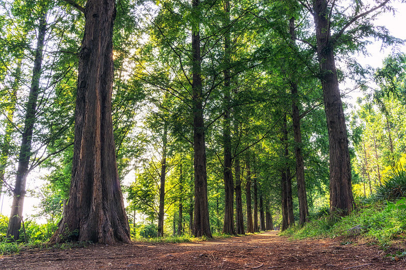
<svg viewBox="0 0 406 270">
<path fill-rule="evenodd" d="M 375 24 L 386 26 L 393 36 L 406 40 L 406 3 L 399 2 L 399 0 L 397 0 L 396 2 L 391 1 L 391 3 L 394 3 L 393 6 L 397 10 L 395 15 L 393 15 L 392 13 L 381 14 L 376 20 Z M 396 49 L 388 47 L 381 50 L 381 42 L 373 42 L 373 44 L 368 45 L 367 51 L 369 53 L 369 56 L 359 54 L 355 55 L 355 57 L 361 65 L 370 65 L 374 68 L 377 68 L 382 65 L 383 59 L 391 54 L 393 51 L 406 53 L 406 45 L 403 45 Z M 341 89 L 345 89 L 349 86 L 341 85 L 340 87 Z M 351 97 L 346 99 L 345 101 L 354 103 L 355 99 L 360 95 L 362 94 L 354 91 L 352 92 Z M 38 191 L 40 189 L 40 184 L 43 183 L 43 181 L 38 181 L 38 178 L 39 172 L 31 172 L 27 179 L 27 189 Z M 25 219 L 30 215 L 36 213 L 35 206 L 38 205 L 39 202 L 40 200 L 38 198 L 29 197 L 29 195 L 26 196 L 23 208 L 23 217 Z M 2 215 L 10 215 L 11 203 L 12 199 L 10 197 L 2 196 L 2 199 L 0 201 L 0 213 Z M 38 222 L 45 222 L 45 219 L 38 220 Z"/>
</svg>

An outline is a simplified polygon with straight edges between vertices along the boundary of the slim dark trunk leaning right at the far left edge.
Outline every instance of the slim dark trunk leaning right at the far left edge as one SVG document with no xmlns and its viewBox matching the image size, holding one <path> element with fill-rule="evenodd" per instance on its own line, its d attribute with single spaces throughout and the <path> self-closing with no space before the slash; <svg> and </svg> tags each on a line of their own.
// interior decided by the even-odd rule
<svg viewBox="0 0 406 270">
<path fill-rule="evenodd" d="M 37 48 L 32 70 L 32 81 L 26 105 L 24 129 L 21 136 L 21 147 L 18 156 L 18 166 L 16 173 L 16 184 L 13 190 L 13 204 L 9 226 L 7 228 L 7 238 L 19 240 L 22 210 L 25 198 L 25 184 L 27 181 L 29 159 L 31 158 L 32 132 L 36 122 L 37 101 L 40 93 L 41 66 L 43 60 L 43 49 L 45 34 L 47 31 L 47 12 L 43 12 L 38 28 Z"/>
</svg>

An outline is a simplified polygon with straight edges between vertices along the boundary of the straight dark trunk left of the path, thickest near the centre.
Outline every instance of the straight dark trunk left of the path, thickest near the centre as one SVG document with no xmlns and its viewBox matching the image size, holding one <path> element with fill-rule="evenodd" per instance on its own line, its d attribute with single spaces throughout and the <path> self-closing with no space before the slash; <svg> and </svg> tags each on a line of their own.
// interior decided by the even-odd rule
<svg viewBox="0 0 406 270">
<path fill-rule="evenodd" d="M 192 1 L 192 14 L 199 21 L 200 1 Z M 212 238 L 207 196 L 206 139 L 203 118 L 205 100 L 201 85 L 201 55 L 199 25 L 192 27 L 192 92 L 193 92 L 193 150 L 194 150 L 194 220 L 192 234 L 195 237 Z"/>
</svg>

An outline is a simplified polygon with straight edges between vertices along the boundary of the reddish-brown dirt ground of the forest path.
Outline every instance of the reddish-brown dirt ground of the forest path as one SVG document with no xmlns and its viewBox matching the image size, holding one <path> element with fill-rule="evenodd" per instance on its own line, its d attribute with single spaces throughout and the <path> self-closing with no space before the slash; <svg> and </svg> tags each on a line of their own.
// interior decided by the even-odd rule
<svg viewBox="0 0 406 270">
<path fill-rule="evenodd" d="M 0 269 L 406 269 L 369 244 L 348 239 L 289 241 L 271 231 L 181 244 L 134 242 L 1 256 Z"/>
</svg>

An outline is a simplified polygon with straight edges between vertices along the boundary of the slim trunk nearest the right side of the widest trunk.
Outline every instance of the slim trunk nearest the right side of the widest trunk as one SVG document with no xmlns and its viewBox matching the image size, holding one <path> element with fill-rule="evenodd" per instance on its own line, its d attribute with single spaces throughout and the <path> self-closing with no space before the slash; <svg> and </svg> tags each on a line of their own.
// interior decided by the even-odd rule
<svg viewBox="0 0 406 270">
<path fill-rule="evenodd" d="M 158 213 L 158 237 L 163 237 L 163 218 L 165 215 L 165 179 L 166 179 L 166 146 L 167 146 L 167 123 L 163 123 L 162 134 L 162 161 L 159 185 L 159 213 Z"/>
</svg>

